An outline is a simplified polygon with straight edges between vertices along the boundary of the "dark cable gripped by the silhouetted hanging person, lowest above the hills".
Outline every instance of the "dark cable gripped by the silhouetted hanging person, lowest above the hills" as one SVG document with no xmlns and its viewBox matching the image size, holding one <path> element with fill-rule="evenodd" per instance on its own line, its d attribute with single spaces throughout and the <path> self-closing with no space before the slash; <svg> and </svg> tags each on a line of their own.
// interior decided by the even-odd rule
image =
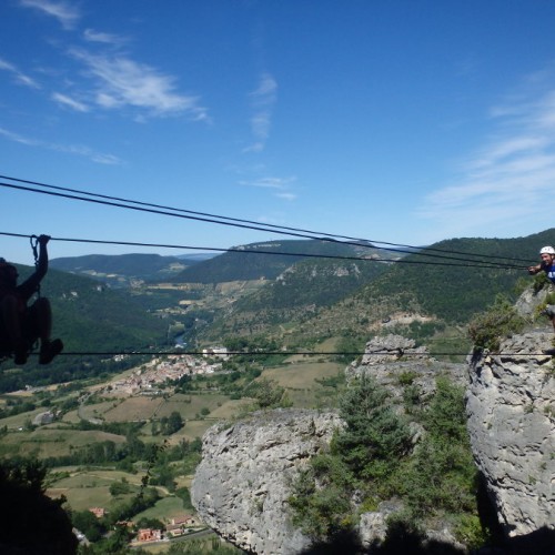
<svg viewBox="0 0 555 555">
<path fill-rule="evenodd" d="M 0 232 L 0 235 L 16 236 L 16 238 L 29 238 L 29 235 L 23 235 L 21 233 L 9 233 Z M 31 235 L 32 236 L 32 235 Z M 95 240 L 95 239 L 70 239 L 70 238 L 50 238 L 51 241 L 64 241 L 74 243 L 94 243 L 94 244 L 112 244 L 112 245 L 124 245 L 124 246 L 148 246 L 157 249 L 180 249 L 180 250 L 192 250 L 192 251 L 212 251 L 212 252 L 232 252 L 232 253 L 243 253 L 243 254 L 270 254 L 275 256 L 296 256 L 296 258 L 313 258 L 313 259 L 331 259 L 331 260 L 350 260 L 356 262 L 379 262 L 379 263 L 394 263 L 394 264 L 421 264 L 421 265 L 440 265 L 440 266 L 455 266 L 455 268 L 481 268 L 481 269 L 501 269 L 501 270 L 522 270 L 522 266 L 501 264 L 498 262 L 492 262 L 486 264 L 482 261 L 468 261 L 470 263 L 446 263 L 446 262 L 432 262 L 422 260 L 389 260 L 389 259 L 367 259 L 360 256 L 343 256 L 339 254 L 314 254 L 314 253 L 287 253 L 287 252 L 276 252 L 276 251 L 264 251 L 264 250 L 245 250 L 245 249 L 220 249 L 215 246 L 192 246 L 192 245 L 176 245 L 176 244 L 163 244 L 163 243 L 140 243 L 131 241 L 107 241 L 107 240 Z M 445 260 L 461 260 L 452 259 L 448 256 Z"/>
</svg>

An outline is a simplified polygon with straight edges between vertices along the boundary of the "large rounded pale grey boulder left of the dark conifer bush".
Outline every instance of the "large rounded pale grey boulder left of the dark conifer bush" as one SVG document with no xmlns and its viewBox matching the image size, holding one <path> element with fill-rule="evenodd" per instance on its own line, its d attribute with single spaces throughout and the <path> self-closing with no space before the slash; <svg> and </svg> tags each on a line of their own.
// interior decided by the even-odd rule
<svg viewBox="0 0 555 555">
<path fill-rule="evenodd" d="M 310 539 L 289 522 L 291 483 L 339 425 L 333 413 L 275 410 L 210 428 L 191 488 L 201 518 L 248 552 L 302 552 Z"/>
</svg>

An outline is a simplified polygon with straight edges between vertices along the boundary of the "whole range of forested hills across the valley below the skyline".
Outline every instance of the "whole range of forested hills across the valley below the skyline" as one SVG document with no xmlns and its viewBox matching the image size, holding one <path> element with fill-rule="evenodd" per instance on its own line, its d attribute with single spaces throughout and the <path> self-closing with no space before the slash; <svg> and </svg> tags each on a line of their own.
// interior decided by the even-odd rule
<svg viewBox="0 0 555 555">
<path fill-rule="evenodd" d="M 163 344 L 172 326 L 184 330 L 190 344 L 195 337 L 221 343 L 236 335 L 292 343 L 332 336 L 361 341 L 397 322 L 396 330 L 408 335 L 424 333 L 425 326 L 428 335 L 441 326 L 463 334 L 498 293 L 516 299 L 518 282 L 531 282 L 526 268 L 538 261 L 545 244 L 555 244 L 555 229 L 516 239 L 446 240 L 412 253 L 319 240 L 270 241 L 188 268 L 176 256 L 148 254 L 54 259 L 43 294 L 52 301 L 53 335 L 65 341 L 67 351 L 143 350 Z M 488 266 L 488 261 L 516 268 Z M 74 273 L 53 269 L 61 265 Z M 21 268 L 20 274 L 31 271 Z M 124 284 L 163 279 L 111 290 L 78 275 L 87 271 L 97 280 L 125 276 Z M 407 313 L 422 315 L 422 325 L 403 323 Z M 110 371 L 99 357 L 69 359 L 48 369 L 2 373 L 0 391 Z"/>
</svg>

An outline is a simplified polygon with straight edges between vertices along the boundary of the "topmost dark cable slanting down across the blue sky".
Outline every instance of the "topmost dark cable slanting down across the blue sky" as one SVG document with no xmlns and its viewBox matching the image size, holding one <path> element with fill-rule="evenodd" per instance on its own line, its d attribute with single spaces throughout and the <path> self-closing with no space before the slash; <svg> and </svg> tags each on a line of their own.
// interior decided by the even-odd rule
<svg viewBox="0 0 555 555">
<path fill-rule="evenodd" d="M 280 231 L 273 231 L 273 230 L 285 230 L 285 231 L 290 231 L 290 232 L 299 232 L 299 233 L 303 233 L 303 234 L 309 233 L 309 234 L 313 235 L 313 236 L 310 236 L 307 239 L 321 239 L 324 241 L 327 240 L 327 241 L 332 241 L 332 242 L 337 242 L 336 239 L 332 239 L 332 238 L 346 239 L 349 241 L 355 241 L 354 244 L 356 246 L 373 248 L 373 249 L 385 250 L 385 251 L 391 251 L 391 252 L 404 252 L 407 254 L 421 254 L 421 253 L 414 252 L 414 251 L 425 250 L 427 252 L 422 253 L 423 255 L 430 255 L 428 252 L 440 252 L 440 253 L 447 253 L 447 254 L 463 254 L 466 256 L 475 256 L 475 258 L 487 256 L 488 259 L 514 260 L 516 262 L 526 262 L 527 264 L 529 264 L 529 261 L 527 261 L 527 260 L 507 259 L 506 256 L 498 256 L 498 255 L 494 255 L 494 254 L 488 255 L 488 254 L 468 253 L 468 252 L 463 252 L 463 251 L 447 251 L 444 249 L 437 249 L 437 248 L 432 248 L 432 246 L 423 248 L 423 246 L 414 246 L 414 245 L 407 245 L 407 244 L 391 243 L 391 242 L 386 242 L 386 241 L 372 241 L 372 240 L 367 240 L 367 239 L 353 238 L 353 236 L 349 236 L 349 235 L 339 235 L 339 234 L 332 234 L 332 233 L 325 233 L 325 232 L 310 231 L 310 230 L 304 230 L 304 229 L 300 229 L 300 228 L 290 228 L 290 226 L 285 226 L 285 225 L 274 225 L 274 224 L 269 224 L 269 223 L 260 223 L 260 222 L 255 222 L 252 220 L 244 220 L 244 219 L 239 219 L 239 218 L 216 215 L 216 214 L 211 214 L 211 213 L 206 213 L 206 212 L 195 212 L 192 210 L 184 210 L 184 209 L 178 209 L 178 208 L 173 208 L 173 206 L 165 206 L 165 205 L 161 205 L 161 204 L 153 204 L 153 203 L 147 203 L 147 202 L 141 202 L 141 201 L 134 201 L 134 200 L 123 199 L 123 198 L 119 198 L 119 196 L 91 193 L 91 192 L 82 191 L 82 190 L 78 190 L 78 189 L 69 189 L 69 188 L 62 188 L 62 186 L 57 186 L 57 185 L 49 185 L 47 183 L 41 183 L 38 181 L 29 181 L 29 180 L 23 180 L 23 179 L 19 179 L 19 178 L 10 178 L 8 175 L 0 175 L 0 179 L 8 179 L 10 181 L 17 181 L 20 183 L 39 185 L 39 186 L 43 186 L 43 188 L 48 188 L 48 189 L 52 189 L 52 190 L 57 190 L 57 191 L 65 191 L 65 192 L 71 192 L 71 193 L 85 194 L 88 196 L 94 196 L 94 198 L 99 198 L 99 199 L 107 199 L 107 200 L 120 201 L 120 202 L 125 202 L 125 203 L 132 203 L 132 204 L 137 204 L 140 206 L 151 206 L 154 209 L 171 210 L 173 212 L 194 214 L 194 215 L 206 216 L 206 218 L 211 218 L 211 219 L 215 218 L 219 220 L 228 220 L 229 221 L 228 223 L 238 222 L 238 223 L 253 224 L 253 225 L 255 225 L 255 228 L 252 228 L 252 229 L 255 229 L 259 231 L 270 231 L 272 233 L 290 234 L 290 233 L 283 233 Z M 6 186 L 7 184 L 3 184 L 3 185 Z M 46 191 L 36 191 L 36 192 L 46 193 Z M 81 199 L 81 200 L 85 200 L 85 199 Z M 127 206 L 127 208 L 132 208 L 132 206 Z M 212 222 L 212 223 L 225 224 L 226 222 L 219 221 L 219 222 Z M 261 226 L 263 226 L 263 228 L 261 228 Z M 306 235 L 300 235 L 300 236 L 304 236 L 306 239 Z M 343 241 L 339 241 L 339 242 L 344 243 Z M 371 244 L 361 244 L 361 243 L 371 243 Z M 375 243 L 390 245 L 391 248 L 376 246 Z M 353 244 L 353 243 L 344 243 L 344 244 Z M 403 251 L 403 250 L 400 250 L 398 248 L 408 249 L 408 251 Z"/>
</svg>

